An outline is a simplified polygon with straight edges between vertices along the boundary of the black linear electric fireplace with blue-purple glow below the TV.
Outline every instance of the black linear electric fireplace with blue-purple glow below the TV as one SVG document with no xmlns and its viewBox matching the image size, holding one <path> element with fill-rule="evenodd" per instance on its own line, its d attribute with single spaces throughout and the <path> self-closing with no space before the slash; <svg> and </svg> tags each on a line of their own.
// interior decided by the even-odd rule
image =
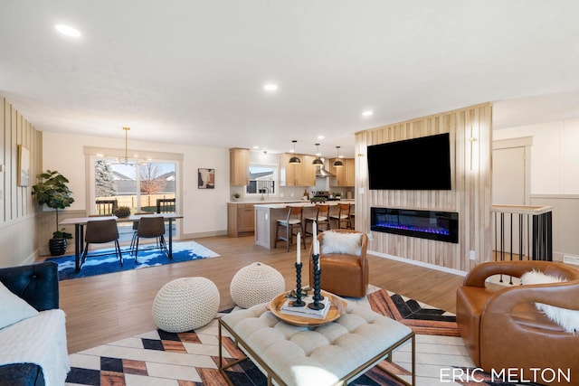
<svg viewBox="0 0 579 386">
<path fill-rule="evenodd" d="M 371 207 L 370 214 L 372 231 L 459 242 L 459 213 L 457 212 Z"/>
</svg>

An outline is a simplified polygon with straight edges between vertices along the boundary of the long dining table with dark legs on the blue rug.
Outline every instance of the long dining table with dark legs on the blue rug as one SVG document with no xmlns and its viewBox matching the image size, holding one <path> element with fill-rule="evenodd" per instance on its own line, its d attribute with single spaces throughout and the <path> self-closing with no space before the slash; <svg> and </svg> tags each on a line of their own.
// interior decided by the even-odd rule
<svg viewBox="0 0 579 386">
<path fill-rule="evenodd" d="M 74 225 L 74 268 L 81 270 L 81 250 L 84 244 L 84 226 L 89 221 L 102 221 L 114 218 L 117 222 L 134 222 L 143 217 L 163 217 L 168 221 L 168 258 L 173 258 L 173 221 L 183 219 L 182 214 L 177 213 L 153 213 L 153 214 L 132 214 L 128 217 L 117 216 L 89 216 L 89 217 L 71 217 L 59 222 L 59 225 Z"/>
</svg>

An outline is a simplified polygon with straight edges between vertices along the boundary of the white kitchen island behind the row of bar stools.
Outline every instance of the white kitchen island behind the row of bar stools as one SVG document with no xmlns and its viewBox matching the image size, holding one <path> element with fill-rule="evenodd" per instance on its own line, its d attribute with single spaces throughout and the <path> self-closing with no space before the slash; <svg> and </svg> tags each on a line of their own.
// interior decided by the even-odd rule
<svg viewBox="0 0 579 386">
<path fill-rule="evenodd" d="M 341 200 L 326 202 L 330 205 L 330 214 L 337 214 L 338 202 L 351 203 L 351 213 L 354 213 L 354 200 Z M 306 217 L 316 216 L 316 204 L 311 202 L 264 203 L 253 205 L 255 211 L 255 244 L 268 249 L 275 248 L 275 230 L 278 225 L 277 221 L 287 217 L 288 206 L 303 206 L 304 222 L 306 221 Z M 331 225 L 334 226 L 334 224 L 335 222 L 332 222 Z M 311 240 L 307 241 L 311 242 Z M 285 247 L 285 241 L 283 243 Z"/>
</svg>

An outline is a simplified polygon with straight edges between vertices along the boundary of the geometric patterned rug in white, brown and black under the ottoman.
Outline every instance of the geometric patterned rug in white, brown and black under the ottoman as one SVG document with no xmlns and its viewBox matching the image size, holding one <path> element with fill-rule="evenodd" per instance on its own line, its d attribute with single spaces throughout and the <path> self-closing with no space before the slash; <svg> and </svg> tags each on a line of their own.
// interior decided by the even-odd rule
<svg viewBox="0 0 579 386">
<path fill-rule="evenodd" d="M 468 372 L 473 368 L 462 339 L 458 335 L 454 315 L 382 289 L 366 298 L 347 298 L 359 306 L 393 317 L 416 332 L 416 385 L 508 385 L 478 380 L 476 383 L 452 381 L 451 373 Z M 233 311 L 234 312 L 234 311 Z M 184 334 L 161 330 L 139 334 L 81 353 L 71 354 L 71 372 L 67 385 L 127 386 L 208 386 L 227 385 L 218 370 L 218 317 L 203 328 Z M 242 358 L 243 353 L 232 339 L 223 336 L 226 361 Z M 394 363 L 380 362 L 355 381 L 354 386 L 400 386 L 383 368 L 399 375 L 408 375 L 412 352 L 404 345 L 394 353 Z M 449 374 L 449 375 L 447 375 Z M 236 386 L 267 384 L 266 377 L 251 362 L 244 361 L 228 371 Z"/>
</svg>

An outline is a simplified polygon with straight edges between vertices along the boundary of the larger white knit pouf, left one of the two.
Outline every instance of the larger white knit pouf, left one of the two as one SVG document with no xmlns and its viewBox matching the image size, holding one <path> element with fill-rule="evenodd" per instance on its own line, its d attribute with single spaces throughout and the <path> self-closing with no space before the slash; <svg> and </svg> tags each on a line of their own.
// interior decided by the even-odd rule
<svg viewBox="0 0 579 386">
<path fill-rule="evenodd" d="M 208 278 L 176 278 L 157 292 L 153 317 L 161 330 L 184 333 L 211 322 L 219 302 L 219 290 Z"/>
</svg>

